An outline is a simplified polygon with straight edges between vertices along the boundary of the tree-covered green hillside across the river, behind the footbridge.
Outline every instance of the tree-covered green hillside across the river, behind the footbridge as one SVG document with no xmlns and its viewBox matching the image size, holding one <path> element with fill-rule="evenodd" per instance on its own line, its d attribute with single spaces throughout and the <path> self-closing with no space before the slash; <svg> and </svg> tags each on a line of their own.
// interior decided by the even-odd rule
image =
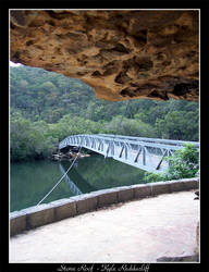
<svg viewBox="0 0 209 272">
<path fill-rule="evenodd" d="M 46 157 L 73 134 L 198 140 L 197 102 L 134 99 L 126 109 L 79 79 L 23 65 L 11 67 L 10 86 L 12 159 Z"/>
</svg>

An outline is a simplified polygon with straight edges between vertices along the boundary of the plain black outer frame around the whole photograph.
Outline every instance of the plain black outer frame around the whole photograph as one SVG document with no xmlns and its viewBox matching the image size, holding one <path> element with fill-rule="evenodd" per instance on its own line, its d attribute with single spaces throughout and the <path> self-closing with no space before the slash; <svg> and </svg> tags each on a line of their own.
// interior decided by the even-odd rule
<svg viewBox="0 0 209 272">
<path fill-rule="evenodd" d="M 61 263 L 9 263 L 9 9 L 200 9 L 200 263 L 151 263 L 149 271 L 172 272 L 172 271 L 209 271 L 209 212 L 207 205 L 208 197 L 208 37 L 209 37 L 209 2 L 198 1 L 1 1 L 0 2 L 0 26 L 1 26 L 1 174 L 0 201 L 1 201 L 1 249 L 0 271 L 58 271 Z M 107 264 L 107 263 L 106 263 Z M 74 268 L 75 271 L 90 271 L 93 263 L 66 263 L 66 268 Z M 102 263 L 94 263 L 93 271 L 108 271 Z M 137 267 L 140 267 L 138 263 Z M 111 263 L 109 269 L 119 271 L 122 263 Z M 128 268 L 128 265 L 126 267 Z M 125 270 L 123 270 L 125 271 Z M 126 270 L 127 271 L 127 270 Z"/>
</svg>

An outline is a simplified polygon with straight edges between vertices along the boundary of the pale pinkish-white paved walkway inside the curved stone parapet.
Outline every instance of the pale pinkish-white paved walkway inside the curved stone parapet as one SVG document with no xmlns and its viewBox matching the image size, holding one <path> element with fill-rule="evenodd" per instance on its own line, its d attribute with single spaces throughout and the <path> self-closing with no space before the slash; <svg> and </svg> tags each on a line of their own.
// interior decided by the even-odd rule
<svg viewBox="0 0 209 272">
<path fill-rule="evenodd" d="M 193 255 L 199 201 L 181 191 L 70 218 L 10 239 L 10 262 L 140 263 Z"/>
</svg>

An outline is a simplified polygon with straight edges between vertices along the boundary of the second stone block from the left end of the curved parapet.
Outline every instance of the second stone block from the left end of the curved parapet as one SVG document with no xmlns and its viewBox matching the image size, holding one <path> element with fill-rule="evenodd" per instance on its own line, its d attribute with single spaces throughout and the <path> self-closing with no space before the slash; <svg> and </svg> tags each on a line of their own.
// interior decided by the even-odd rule
<svg viewBox="0 0 209 272">
<path fill-rule="evenodd" d="M 54 208 L 50 203 L 32 207 L 27 210 L 27 230 L 54 222 Z"/>
</svg>

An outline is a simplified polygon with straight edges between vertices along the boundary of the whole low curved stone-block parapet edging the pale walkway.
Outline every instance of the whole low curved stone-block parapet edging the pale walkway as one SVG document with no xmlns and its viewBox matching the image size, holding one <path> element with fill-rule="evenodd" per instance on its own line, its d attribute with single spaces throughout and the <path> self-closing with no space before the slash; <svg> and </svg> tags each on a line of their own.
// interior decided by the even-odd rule
<svg viewBox="0 0 209 272">
<path fill-rule="evenodd" d="M 10 213 L 10 235 L 16 235 L 41 225 L 134 199 L 155 197 L 182 190 L 197 189 L 199 178 L 137 184 L 114 187 L 34 206 Z"/>
</svg>

